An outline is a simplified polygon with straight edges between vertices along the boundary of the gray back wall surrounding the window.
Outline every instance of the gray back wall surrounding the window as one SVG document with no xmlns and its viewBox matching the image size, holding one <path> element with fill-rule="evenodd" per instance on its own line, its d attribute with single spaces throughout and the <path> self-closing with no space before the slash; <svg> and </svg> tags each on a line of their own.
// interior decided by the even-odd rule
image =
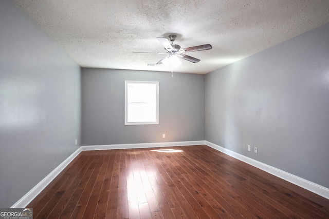
<svg viewBox="0 0 329 219">
<path fill-rule="evenodd" d="M 159 82 L 159 125 L 124 125 L 125 80 Z M 205 140 L 205 75 L 82 69 L 82 145 L 198 140 Z"/>
</svg>

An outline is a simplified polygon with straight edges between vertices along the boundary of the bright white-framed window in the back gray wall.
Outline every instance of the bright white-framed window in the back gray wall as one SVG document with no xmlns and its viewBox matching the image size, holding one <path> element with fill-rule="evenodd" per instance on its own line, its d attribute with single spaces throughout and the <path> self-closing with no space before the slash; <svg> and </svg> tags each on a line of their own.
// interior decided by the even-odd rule
<svg viewBox="0 0 329 219">
<path fill-rule="evenodd" d="M 159 124 L 159 82 L 125 81 L 124 125 Z"/>
</svg>

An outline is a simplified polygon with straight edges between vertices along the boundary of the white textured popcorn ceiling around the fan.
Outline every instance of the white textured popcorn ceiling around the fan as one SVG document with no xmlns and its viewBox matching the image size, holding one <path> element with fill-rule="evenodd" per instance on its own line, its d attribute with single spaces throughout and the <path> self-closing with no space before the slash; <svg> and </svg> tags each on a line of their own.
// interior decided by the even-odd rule
<svg viewBox="0 0 329 219">
<path fill-rule="evenodd" d="M 211 44 L 174 72 L 208 73 L 329 22 L 328 0 L 13 0 L 81 67 L 170 71 L 157 36 Z"/>
</svg>

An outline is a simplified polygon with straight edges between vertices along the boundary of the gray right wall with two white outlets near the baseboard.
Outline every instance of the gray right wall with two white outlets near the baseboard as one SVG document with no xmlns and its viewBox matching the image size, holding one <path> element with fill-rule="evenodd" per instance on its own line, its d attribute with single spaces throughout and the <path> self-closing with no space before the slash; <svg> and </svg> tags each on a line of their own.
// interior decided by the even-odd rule
<svg viewBox="0 0 329 219">
<path fill-rule="evenodd" d="M 329 188 L 329 24 L 208 73 L 206 140 Z"/>
</svg>

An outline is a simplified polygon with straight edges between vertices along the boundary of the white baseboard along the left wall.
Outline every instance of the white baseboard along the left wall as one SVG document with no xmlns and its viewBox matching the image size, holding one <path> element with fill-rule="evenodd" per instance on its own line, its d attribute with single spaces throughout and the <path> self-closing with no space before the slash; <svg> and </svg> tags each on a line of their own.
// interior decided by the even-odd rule
<svg viewBox="0 0 329 219">
<path fill-rule="evenodd" d="M 51 171 L 46 177 L 43 178 L 36 186 L 34 186 L 28 193 L 26 193 L 19 201 L 17 201 L 10 208 L 25 208 L 51 181 L 64 170 L 64 168 L 74 160 L 76 156 L 81 152 L 81 147 L 73 152 L 66 158 L 58 167 Z"/>
</svg>

